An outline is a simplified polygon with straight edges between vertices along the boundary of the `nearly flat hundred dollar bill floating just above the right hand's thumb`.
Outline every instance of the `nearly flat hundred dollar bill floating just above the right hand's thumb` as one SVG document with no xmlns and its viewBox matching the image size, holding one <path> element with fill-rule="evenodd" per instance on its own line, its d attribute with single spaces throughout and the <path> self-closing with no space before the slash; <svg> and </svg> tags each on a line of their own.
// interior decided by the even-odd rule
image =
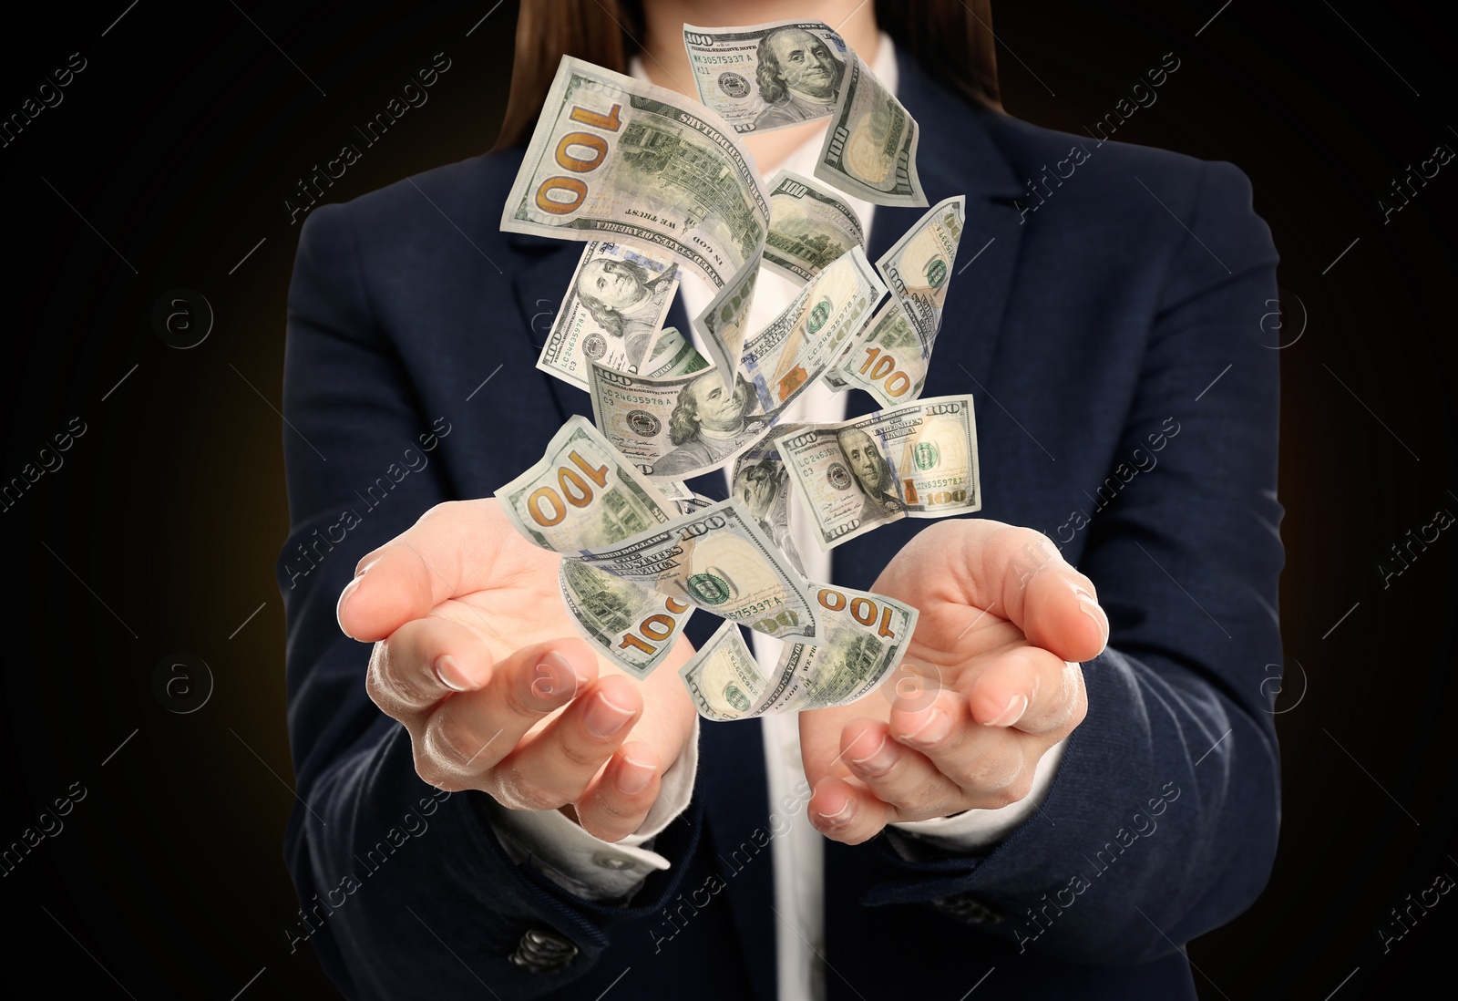
<svg viewBox="0 0 1458 1001">
<path fill-rule="evenodd" d="M 901 518 L 983 505 L 970 395 L 933 397 L 777 439 L 822 552 Z"/>
</svg>

